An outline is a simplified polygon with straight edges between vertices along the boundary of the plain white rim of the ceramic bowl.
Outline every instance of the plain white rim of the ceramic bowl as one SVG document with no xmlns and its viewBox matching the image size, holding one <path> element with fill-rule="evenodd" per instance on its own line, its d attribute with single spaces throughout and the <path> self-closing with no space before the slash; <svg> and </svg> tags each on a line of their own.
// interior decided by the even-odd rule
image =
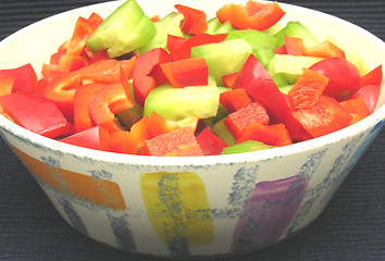
<svg viewBox="0 0 385 261">
<path fill-rule="evenodd" d="M 156 0 L 138 0 L 139 4 L 140 2 L 151 2 Z M 173 0 L 171 0 L 173 1 Z M 48 23 L 51 20 L 54 18 L 61 18 L 62 16 L 65 16 L 72 12 L 85 12 L 85 11 L 90 11 L 94 8 L 101 8 L 104 5 L 110 5 L 110 4 L 119 4 L 122 3 L 122 0 L 117 1 L 111 1 L 111 2 L 102 2 L 102 3 L 95 3 L 73 10 L 69 10 L 65 12 L 61 12 L 58 14 L 54 14 L 52 16 L 46 17 L 44 20 L 40 20 L 38 22 L 35 22 L 13 34 L 4 38 L 3 40 L 0 41 L 0 48 L 3 45 L 7 45 L 8 41 L 11 41 L 13 38 L 18 37 L 23 33 L 27 30 L 32 30 L 35 27 L 39 26 L 40 24 Z M 179 1 L 181 2 L 181 1 Z M 244 0 L 225 0 L 223 3 L 226 2 L 245 2 Z M 352 24 L 348 21 L 345 21 L 343 18 L 339 18 L 337 16 L 318 11 L 318 10 L 312 10 L 308 8 L 303 8 L 300 5 L 295 5 L 295 4 L 289 4 L 289 3 L 282 3 L 280 2 L 280 5 L 282 5 L 284 9 L 296 9 L 301 12 L 311 12 L 314 15 L 319 16 L 324 16 L 327 20 L 335 20 L 338 23 L 343 23 L 349 27 L 353 27 L 355 30 L 358 30 L 360 34 L 365 35 L 367 37 L 372 38 L 374 41 L 378 41 L 380 45 L 382 45 L 385 49 L 385 42 L 381 40 L 377 36 L 373 35 L 372 33 L 363 29 L 362 27 Z M 382 83 L 382 92 L 385 89 L 385 75 L 383 76 L 383 83 Z M 97 161 L 102 161 L 102 162 L 110 162 L 110 163 L 120 163 L 120 164 L 137 164 L 137 165 L 167 165 L 167 166 L 175 166 L 175 165 L 214 165 L 214 164 L 232 164 L 232 163 L 238 163 L 238 162 L 249 162 L 249 161 L 259 161 L 259 160 L 266 160 L 266 159 L 272 159 L 276 157 L 284 157 L 288 154 L 296 154 L 300 153 L 303 151 L 310 151 L 314 150 L 319 147 L 324 147 L 334 142 L 338 142 L 341 139 L 347 139 L 351 136 L 355 136 L 359 133 L 367 132 L 371 127 L 375 126 L 380 122 L 385 121 L 385 103 L 382 104 L 380 108 L 377 108 L 372 114 L 367 116 L 365 119 L 347 126 L 343 129 L 336 130 L 334 133 L 312 138 L 310 140 L 293 144 L 289 146 L 284 146 L 284 147 L 276 147 L 273 149 L 268 149 L 268 150 L 261 150 L 261 151 L 251 151 L 251 152 L 241 152 L 241 153 L 235 153 L 235 154 L 220 154 L 220 156 L 203 156 L 203 157 L 151 157 L 151 156 L 136 156 L 136 154 L 124 154 L 124 153 L 116 153 L 116 152 L 109 152 L 109 151 L 100 151 L 100 150 L 94 150 L 94 149 L 88 149 L 88 148 L 83 148 L 74 145 L 69 145 L 61 142 L 59 140 L 54 140 L 51 138 L 44 137 L 41 135 L 35 134 L 30 130 L 25 129 L 24 127 L 13 123 L 12 121 L 8 120 L 5 116 L 0 115 L 0 128 L 1 132 L 5 130 L 9 134 L 12 134 L 13 136 L 17 137 L 20 140 L 28 140 L 35 146 L 46 148 L 48 150 L 54 150 L 54 151 L 62 151 L 63 153 L 67 153 L 71 156 L 75 156 L 76 158 L 92 158 L 94 160 Z"/>
</svg>

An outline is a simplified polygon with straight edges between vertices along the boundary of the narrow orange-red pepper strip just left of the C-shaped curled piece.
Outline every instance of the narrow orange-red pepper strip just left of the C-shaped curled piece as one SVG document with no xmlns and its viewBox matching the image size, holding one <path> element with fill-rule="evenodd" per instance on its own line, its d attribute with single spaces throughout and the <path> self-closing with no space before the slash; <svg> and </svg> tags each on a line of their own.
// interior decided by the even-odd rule
<svg viewBox="0 0 385 261">
<path fill-rule="evenodd" d="M 105 84 L 80 85 L 74 96 L 74 127 L 79 133 L 94 127 L 90 114 L 90 103 L 96 92 L 105 87 Z"/>
</svg>

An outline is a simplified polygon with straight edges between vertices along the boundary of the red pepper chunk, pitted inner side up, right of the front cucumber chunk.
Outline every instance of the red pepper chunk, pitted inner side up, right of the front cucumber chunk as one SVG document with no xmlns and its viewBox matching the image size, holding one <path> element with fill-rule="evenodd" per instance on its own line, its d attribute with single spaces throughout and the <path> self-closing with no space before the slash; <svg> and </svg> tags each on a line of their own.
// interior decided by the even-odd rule
<svg viewBox="0 0 385 261">
<path fill-rule="evenodd" d="M 270 122 L 266 110 L 259 102 L 244 107 L 228 114 L 224 120 L 225 125 L 235 138 L 239 138 L 244 130 L 253 122 L 263 125 L 268 125 Z"/>
</svg>

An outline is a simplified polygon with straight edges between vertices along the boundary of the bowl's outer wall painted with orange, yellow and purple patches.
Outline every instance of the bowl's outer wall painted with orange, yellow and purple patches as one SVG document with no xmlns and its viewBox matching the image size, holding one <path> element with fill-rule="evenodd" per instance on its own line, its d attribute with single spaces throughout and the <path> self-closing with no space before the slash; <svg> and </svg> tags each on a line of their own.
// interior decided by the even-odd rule
<svg viewBox="0 0 385 261">
<path fill-rule="evenodd" d="M 262 161 L 112 163 L 4 140 L 75 229 L 127 252 L 192 258 L 276 244 L 309 225 L 384 125 Z"/>
</svg>

